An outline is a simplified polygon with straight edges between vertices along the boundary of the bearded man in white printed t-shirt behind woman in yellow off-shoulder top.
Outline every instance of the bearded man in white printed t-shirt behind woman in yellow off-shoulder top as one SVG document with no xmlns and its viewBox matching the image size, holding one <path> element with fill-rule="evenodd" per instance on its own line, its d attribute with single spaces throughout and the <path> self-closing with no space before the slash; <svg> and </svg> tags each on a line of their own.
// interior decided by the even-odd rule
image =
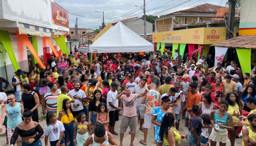
<svg viewBox="0 0 256 146">
<path fill-rule="evenodd" d="M 75 103 L 73 104 L 73 112 L 75 117 L 83 111 L 83 102 L 86 103 L 86 94 L 83 90 L 80 90 L 80 83 L 75 83 L 75 88 L 70 90 L 69 93 L 74 97 Z"/>
</svg>

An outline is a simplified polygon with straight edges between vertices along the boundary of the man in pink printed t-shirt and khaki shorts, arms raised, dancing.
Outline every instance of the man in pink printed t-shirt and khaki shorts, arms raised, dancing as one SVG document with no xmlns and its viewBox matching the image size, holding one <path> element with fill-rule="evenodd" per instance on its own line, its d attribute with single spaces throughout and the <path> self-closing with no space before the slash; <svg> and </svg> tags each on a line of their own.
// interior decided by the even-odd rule
<svg viewBox="0 0 256 146">
<path fill-rule="evenodd" d="M 143 97 L 146 95 L 148 90 L 145 90 L 141 94 L 131 94 L 131 90 L 129 87 L 125 87 L 124 91 L 117 95 L 116 99 L 119 99 L 123 103 L 124 113 L 122 117 L 122 121 L 120 124 L 120 145 L 123 145 L 124 133 L 128 126 L 131 129 L 131 142 L 130 145 L 134 145 L 133 141 L 136 134 L 137 127 L 137 113 L 135 108 L 135 102 L 137 98 Z"/>
</svg>

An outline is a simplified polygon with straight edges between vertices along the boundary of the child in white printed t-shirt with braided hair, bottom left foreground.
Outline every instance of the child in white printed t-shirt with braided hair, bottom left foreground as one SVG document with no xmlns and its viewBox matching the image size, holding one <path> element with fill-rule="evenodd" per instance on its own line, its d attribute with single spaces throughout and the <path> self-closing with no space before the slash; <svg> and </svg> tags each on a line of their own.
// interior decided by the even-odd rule
<svg viewBox="0 0 256 146">
<path fill-rule="evenodd" d="M 48 138 L 51 146 L 56 146 L 59 143 L 59 146 L 65 146 L 64 143 L 64 131 L 65 128 L 63 124 L 57 120 L 57 115 L 53 111 L 49 111 L 46 114 L 46 127 L 44 132 L 44 142 L 47 146 Z"/>
</svg>

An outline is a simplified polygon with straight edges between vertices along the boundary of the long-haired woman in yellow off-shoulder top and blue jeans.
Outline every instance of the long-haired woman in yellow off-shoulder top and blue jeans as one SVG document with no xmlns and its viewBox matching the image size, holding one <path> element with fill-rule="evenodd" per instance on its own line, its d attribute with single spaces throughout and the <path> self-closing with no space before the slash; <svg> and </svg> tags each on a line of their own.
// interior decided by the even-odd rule
<svg viewBox="0 0 256 146">
<path fill-rule="evenodd" d="M 70 146 L 74 146 L 74 123 L 75 118 L 73 115 L 73 110 L 70 106 L 70 101 L 68 98 L 63 100 L 62 103 L 62 110 L 59 112 L 59 120 L 63 123 L 65 131 L 65 144 L 67 144 L 68 136 L 69 136 L 69 142 Z"/>
</svg>

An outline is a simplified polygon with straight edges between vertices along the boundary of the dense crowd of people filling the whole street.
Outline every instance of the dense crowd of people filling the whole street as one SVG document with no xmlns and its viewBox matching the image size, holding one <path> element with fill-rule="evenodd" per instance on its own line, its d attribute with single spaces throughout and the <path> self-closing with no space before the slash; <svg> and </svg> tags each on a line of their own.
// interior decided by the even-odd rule
<svg viewBox="0 0 256 146">
<path fill-rule="evenodd" d="M 10 146 L 42 145 L 43 136 L 46 146 L 117 146 L 113 134 L 123 146 L 128 126 L 134 146 L 137 124 L 144 133 L 142 145 L 152 126 L 157 146 L 180 146 L 181 139 L 190 146 L 224 146 L 229 140 L 234 146 L 238 126 L 243 126 L 243 145 L 256 144 L 255 74 L 242 74 L 239 63 L 214 66 L 212 54 L 197 62 L 183 60 L 177 50 L 174 58 L 169 50 L 163 55 L 102 53 L 91 64 L 84 53 L 70 54 L 51 55 L 46 69 L 37 63 L 29 72 L 17 70 L 14 94 L 0 92 L 0 132 L 4 125 Z M 0 88 L 4 91 L 9 83 L 0 79 L 7 85 Z M 40 104 L 44 131 L 38 124 Z M 188 128 L 187 135 L 180 126 Z"/>
</svg>

